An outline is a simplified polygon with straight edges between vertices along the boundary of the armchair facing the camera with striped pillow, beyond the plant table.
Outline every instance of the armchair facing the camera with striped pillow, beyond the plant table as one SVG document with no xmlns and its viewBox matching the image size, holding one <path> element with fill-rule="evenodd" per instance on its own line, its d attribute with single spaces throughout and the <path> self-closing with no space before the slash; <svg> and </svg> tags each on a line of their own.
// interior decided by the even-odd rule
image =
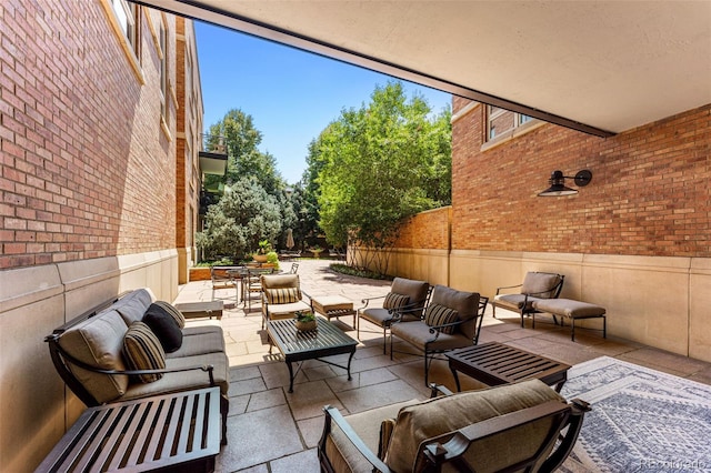
<svg viewBox="0 0 711 473">
<path fill-rule="evenodd" d="M 311 311 L 302 300 L 299 274 L 266 274 L 261 278 L 262 329 L 268 320 L 293 319 L 299 311 Z"/>
</svg>

